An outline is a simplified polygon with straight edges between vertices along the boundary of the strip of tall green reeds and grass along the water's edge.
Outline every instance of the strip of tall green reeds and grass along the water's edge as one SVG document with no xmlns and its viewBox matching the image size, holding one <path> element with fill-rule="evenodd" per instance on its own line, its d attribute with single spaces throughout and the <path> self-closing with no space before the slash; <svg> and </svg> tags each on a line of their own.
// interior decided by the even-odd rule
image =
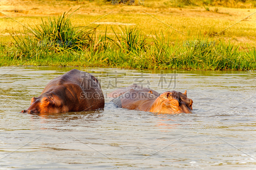
<svg viewBox="0 0 256 170">
<path fill-rule="evenodd" d="M 137 27 L 75 27 L 64 13 L 36 27 L 24 26 L 12 35 L 14 43 L 0 45 L 0 66 L 108 66 L 149 69 L 255 70 L 256 50 L 221 40 L 211 42 L 209 35 L 171 42 L 170 36 L 156 31 L 143 34 Z M 113 36 L 107 35 L 112 30 Z"/>
</svg>

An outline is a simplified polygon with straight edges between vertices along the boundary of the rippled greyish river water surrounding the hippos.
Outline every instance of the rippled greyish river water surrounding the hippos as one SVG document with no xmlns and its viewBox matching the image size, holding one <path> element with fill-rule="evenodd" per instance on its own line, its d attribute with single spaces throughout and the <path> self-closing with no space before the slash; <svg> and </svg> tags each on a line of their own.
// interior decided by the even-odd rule
<svg viewBox="0 0 256 170">
<path fill-rule="evenodd" d="M 31 115 L 45 85 L 73 68 L 0 68 L 2 169 L 255 169 L 256 73 L 77 68 L 104 94 L 132 83 L 184 92 L 193 114 L 117 108 Z"/>
</svg>

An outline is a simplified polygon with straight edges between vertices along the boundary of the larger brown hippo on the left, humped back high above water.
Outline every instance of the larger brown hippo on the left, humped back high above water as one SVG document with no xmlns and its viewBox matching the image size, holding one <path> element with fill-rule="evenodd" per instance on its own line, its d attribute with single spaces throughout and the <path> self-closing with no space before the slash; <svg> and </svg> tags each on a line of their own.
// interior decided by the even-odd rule
<svg viewBox="0 0 256 170">
<path fill-rule="evenodd" d="M 39 97 L 21 112 L 79 112 L 104 108 L 99 81 L 91 74 L 73 69 L 52 79 Z"/>
</svg>

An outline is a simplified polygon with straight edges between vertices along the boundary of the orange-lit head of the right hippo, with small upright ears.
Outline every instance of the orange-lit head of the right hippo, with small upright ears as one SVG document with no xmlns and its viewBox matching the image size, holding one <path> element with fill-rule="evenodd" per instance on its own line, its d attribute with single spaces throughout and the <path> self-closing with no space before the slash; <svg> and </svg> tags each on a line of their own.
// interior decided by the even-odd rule
<svg viewBox="0 0 256 170">
<path fill-rule="evenodd" d="M 185 93 L 166 91 L 153 103 L 150 112 L 159 113 L 192 113 L 193 101 Z"/>
</svg>

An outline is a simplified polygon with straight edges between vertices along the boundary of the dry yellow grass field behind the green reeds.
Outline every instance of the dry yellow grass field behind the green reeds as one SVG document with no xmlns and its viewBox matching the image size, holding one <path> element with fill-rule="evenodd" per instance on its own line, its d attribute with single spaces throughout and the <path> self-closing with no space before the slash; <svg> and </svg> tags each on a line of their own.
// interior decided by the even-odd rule
<svg viewBox="0 0 256 170">
<path fill-rule="evenodd" d="M 97 20 L 99 33 L 105 32 L 106 26 L 112 26 L 117 29 L 116 23 L 132 24 L 140 28 L 145 34 L 150 32 L 164 31 L 166 35 L 171 35 L 173 42 L 184 40 L 195 40 L 198 36 L 214 35 L 215 33 L 225 29 L 240 19 L 255 12 L 256 9 L 237 9 L 224 7 L 210 7 L 210 11 L 206 11 L 202 7 L 185 7 L 170 8 L 165 5 L 166 0 L 147 1 L 144 6 L 129 5 L 106 5 L 101 1 L 28 1 L 28 0 L 1 0 L 0 11 L 12 17 L 22 24 L 31 26 L 41 22 L 41 17 L 46 19 L 48 16 L 58 16 L 63 12 L 72 11 L 80 8 L 72 15 L 72 22 L 77 26 L 87 26 L 100 17 L 112 12 L 105 17 Z M 218 10 L 215 10 L 218 8 Z M 215 12 L 214 12 L 215 11 Z M 217 12 L 216 12 L 217 11 Z M 165 24 L 159 22 L 156 17 L 167 25 L 179 30 L 184 35 L 178 33 L 172 28 L 168 28 Z M 10 41 L 10 33 L 19 30 L 22 26 L 7 18 L 0 13 L 0 38 L 2 42 Z M 111 24 L 112 23 L 112 24 Z M 229 28 L 218 36 L 211 36 L 212 41 L 224 39 L 226 42 L 241 44 L 241 48 L 246 48 L 246 44 L 253 46 L 256 38 L 256 14 L 241 21 L 235 26 Z M 118 31 L 117 31 L 118 32 Z M 112 30 L 108 29 L 111 35 Z"/>
</svg>

